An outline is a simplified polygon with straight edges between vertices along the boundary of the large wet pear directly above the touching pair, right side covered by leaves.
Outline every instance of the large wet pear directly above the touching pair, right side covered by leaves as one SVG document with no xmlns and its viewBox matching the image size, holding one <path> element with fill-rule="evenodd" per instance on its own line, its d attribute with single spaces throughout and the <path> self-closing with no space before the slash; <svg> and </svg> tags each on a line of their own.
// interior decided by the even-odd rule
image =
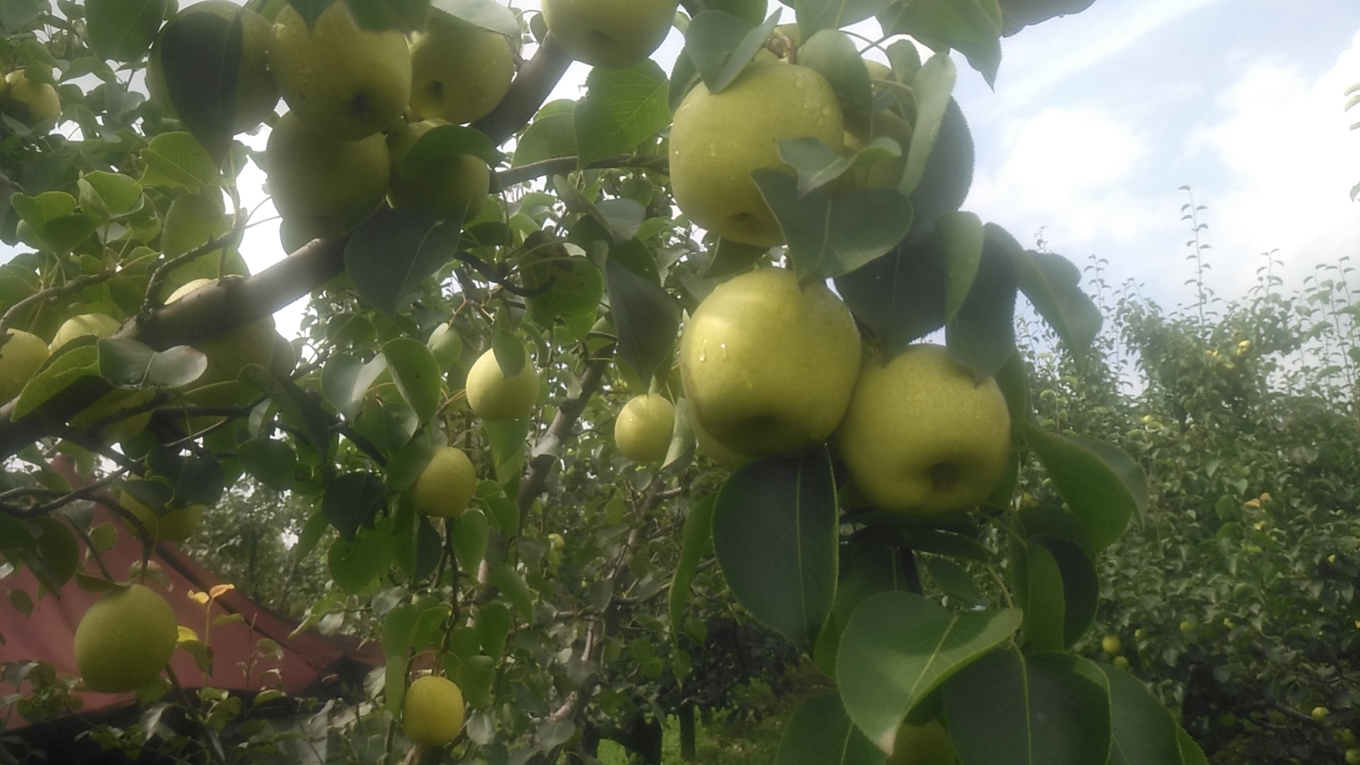
<svg viewBox="0 0 1360 765">
<path fill-rule="evenodd" d="M 845 139 L 836 94 L 813 69 L 752 61 L 721 93 L 696 84 L 670 127 L 676 206 L 721 237 L 756 246 L 783 244 L 751 172 L 771 167 L 792 174 L 779 158 L 779 142 L 806 136 L 832 148 Z"/>
</svg>

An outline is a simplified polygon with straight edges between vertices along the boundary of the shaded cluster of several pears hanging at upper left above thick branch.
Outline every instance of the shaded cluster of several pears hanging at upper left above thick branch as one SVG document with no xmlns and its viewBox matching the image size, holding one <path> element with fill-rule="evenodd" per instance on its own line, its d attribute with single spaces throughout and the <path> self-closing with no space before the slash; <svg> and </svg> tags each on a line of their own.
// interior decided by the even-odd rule
<svg viewBox="0 0 1360 765">
<path fill-rule="evenodd" d="M 271 22 L 230 0 L 205 0 L 177 14 L 151 49 L 147 88 L 171 117 L 162 41 L 201 14 L 241 20 L 231 129 L 273 124 L 262 165 L 286 249 L 348 233 L 384 200 L 439 216 L 480 212 L 486 161 L 460 154 L 407 166 L 405 158 L 430 129 L 472 123 L 500 103 L 517 65 L 509 38 L 439 10 L 408 37 L 360 27 L 345 3 L 309 23 L 290 4 Z M 280 98 L 288 112 L 275 121 Z"/>
</svg>

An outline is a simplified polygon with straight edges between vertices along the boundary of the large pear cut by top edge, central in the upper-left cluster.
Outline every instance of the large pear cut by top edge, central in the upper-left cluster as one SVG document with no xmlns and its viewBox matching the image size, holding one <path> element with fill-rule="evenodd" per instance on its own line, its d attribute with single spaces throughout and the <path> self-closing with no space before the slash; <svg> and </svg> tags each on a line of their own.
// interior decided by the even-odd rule
<svg viewBox="0 0 1360 765">
<path fill-rule="evenodd" d="M 279 11 L 269 69 L 288 109 L 337 140 L 382 131 L 411 99 L 407 38 L 394 30 L 359 29 L 345 3 L 322 11 L 310 31 L 292 5 Z"/>
</svg>

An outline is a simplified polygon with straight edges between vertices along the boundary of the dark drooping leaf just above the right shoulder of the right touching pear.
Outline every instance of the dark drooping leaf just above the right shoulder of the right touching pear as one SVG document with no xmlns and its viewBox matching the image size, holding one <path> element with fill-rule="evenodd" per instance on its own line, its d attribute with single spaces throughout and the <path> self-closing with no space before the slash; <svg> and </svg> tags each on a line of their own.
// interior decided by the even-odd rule
<svg viewBox="0 0 1360 765">
<path fill-rule="evenodd" d="M 1015 353 L 1016 275 L 996 246 L 985 245 L 953 320 L 945 325 L 949 355 L 972 369 L 981 382 L 996 374 Z"/>
</svg>

